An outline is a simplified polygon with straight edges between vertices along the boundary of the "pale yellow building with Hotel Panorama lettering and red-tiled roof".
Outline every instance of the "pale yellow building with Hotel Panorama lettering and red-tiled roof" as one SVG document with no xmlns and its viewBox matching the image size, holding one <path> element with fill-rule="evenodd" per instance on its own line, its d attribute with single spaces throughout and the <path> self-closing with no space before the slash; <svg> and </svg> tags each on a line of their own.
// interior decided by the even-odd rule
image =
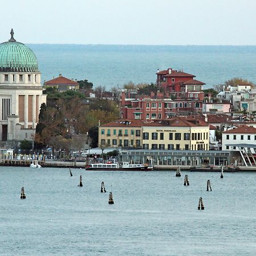
<svg viewBox="0 0 256 256">
<path fill-rule="evenodd" d="M 174 117 L 143 126 L 144 149 L 209 150 L 209 125 L 196 119 Z"/>
</svg>

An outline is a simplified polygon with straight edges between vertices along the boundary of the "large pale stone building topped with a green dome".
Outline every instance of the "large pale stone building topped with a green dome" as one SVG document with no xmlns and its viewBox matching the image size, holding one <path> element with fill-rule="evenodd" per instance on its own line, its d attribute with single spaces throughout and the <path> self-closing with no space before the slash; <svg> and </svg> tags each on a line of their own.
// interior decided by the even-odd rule
<svg viewBox="0 0 256 256">
<path fill-rule="evenodd" d="M 16 42 L 0 44 L 0 141 L 32 141 L 46 103 L 35 53 Z"/>
</svg>

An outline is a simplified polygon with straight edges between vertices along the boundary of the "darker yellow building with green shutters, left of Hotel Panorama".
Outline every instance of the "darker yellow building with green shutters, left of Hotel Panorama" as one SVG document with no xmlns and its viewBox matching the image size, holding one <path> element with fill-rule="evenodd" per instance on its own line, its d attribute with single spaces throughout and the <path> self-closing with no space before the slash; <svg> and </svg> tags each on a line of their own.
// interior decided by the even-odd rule
<svg viewBox="0 0 256 256">
<path fill-rule="evenodd" d="M 101 125 L 98 129 L 98 144 L 108 147 L 142 147 L 144 123 L 140 119 L 119 119 Z"/>
</svg>

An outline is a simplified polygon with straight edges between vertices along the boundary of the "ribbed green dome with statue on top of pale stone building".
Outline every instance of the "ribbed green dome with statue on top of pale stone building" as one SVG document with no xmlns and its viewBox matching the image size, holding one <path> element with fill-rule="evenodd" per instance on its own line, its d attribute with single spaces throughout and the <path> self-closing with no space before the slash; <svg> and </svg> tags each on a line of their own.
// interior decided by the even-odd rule
<svg viewBox="0 0 256 256">
<path fill-rule="evenodd" d="M 11 39 L 0 44 L 0 72 L 39 72 L 35 53 L 23 43 Z"/>
</svg>

